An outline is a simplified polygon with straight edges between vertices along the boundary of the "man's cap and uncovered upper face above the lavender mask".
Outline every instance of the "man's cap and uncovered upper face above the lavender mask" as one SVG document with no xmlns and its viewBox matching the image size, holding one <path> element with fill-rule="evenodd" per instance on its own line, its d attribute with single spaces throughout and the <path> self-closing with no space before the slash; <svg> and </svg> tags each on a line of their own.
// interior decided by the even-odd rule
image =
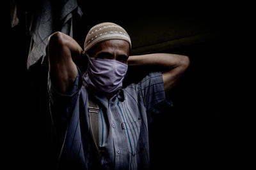
<svg viewBox="0 0 256 170">
<path fill-rule="evenodd" d="M 112 22 L 97 24 L 88 32 L 84 41 L 84 52 L 90 57 L 114 59 L 126 62 L 131 50 L 131 39 L 127 32 Z"/>
</svg>

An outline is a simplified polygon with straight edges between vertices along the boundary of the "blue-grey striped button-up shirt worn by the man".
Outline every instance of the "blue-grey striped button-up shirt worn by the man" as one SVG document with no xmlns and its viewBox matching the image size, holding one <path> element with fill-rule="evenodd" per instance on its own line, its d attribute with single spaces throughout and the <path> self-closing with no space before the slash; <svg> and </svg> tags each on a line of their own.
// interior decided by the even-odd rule
<svg viewBox="0 0 256 170">
<path fill-rule="evenodd" d="M 163 77 L 150 73 L 107 99 L 77 74 L 70 95 L 48 89 L 51 113 L 62 143 L 59 169 L 149 169 L 148 123 L 172 102 L 165 97 Z M 98 148 L 90 133 L 88 96 L 99 106 Z"/>
</svg>

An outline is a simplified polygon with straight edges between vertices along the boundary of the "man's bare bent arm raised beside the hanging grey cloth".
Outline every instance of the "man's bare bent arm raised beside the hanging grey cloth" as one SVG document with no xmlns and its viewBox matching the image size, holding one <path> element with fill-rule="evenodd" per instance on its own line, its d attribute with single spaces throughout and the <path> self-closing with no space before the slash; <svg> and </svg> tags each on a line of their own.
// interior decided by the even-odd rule
<svg viewBox="0 0 256 170">
<path fill-rule="evenodd" d="M 58 92 L 67 94 L 77 76 L 74 60 L 83 55 L 83 49 L 70 36 L 54 32 L 49 37 L 47 50 L 52 84 Z"/>
</svg>

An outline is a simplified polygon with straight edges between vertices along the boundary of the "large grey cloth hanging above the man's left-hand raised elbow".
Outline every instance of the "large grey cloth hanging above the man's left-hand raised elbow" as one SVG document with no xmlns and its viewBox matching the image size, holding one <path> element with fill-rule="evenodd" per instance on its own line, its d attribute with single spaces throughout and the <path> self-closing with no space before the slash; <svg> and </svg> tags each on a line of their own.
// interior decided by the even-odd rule
<svg viewBox="0 0 256 170">
<path fill-rule="evenodd" d="M 83 15 L 77 0 L 42 0 L 40 8 L 34 13 L 30 25 L 31 43 L 29 47 L 27 68 L 46 55 L 45 47 L 49 36 L 56 31 L 73 36 L 73 13 Z"/>
</svg>

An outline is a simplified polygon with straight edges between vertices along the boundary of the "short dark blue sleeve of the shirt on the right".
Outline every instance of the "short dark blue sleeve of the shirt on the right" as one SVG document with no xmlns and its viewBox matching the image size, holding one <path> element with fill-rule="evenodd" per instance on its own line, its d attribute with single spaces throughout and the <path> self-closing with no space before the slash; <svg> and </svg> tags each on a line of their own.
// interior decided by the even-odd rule
<svg viewBox="0 0 256 170">
<path fill-rule="evenodd" d="M 152 121 L 152 113 L 160 113 L 172 106 L 172 101 L 165 96 L 163 76 L 161 72 L 148 74 L 138 84 L 140 97 L 147 109 L 148 121 Z"/>
</svg>

